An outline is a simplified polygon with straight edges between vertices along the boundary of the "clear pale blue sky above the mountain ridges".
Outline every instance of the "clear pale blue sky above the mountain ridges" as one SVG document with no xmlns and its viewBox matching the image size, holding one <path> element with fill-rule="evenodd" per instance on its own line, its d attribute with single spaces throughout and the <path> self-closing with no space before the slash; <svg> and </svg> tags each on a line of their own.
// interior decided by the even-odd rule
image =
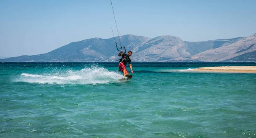
<svg viewBox="0 0 256 138">
<path fill-rule="evenodd" d="M 256 0 L 112 0 L 121 35 L 183 41 L 249 37 Z M 0 57 L 36 55 L 117 36 L 110 0 L 0 0 Z"/>
</svg>

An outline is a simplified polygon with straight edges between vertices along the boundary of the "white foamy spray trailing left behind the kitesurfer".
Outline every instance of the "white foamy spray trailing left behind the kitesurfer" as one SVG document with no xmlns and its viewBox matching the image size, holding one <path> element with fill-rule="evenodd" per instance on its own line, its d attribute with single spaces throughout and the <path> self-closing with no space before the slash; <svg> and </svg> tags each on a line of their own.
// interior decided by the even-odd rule
<svg viewBox="0 0 256 138">
<path fill-rule="evenodd" d="M 51 70 L 49 70 L 51 72 Z M 57 84 L 104 84 L 123 78 L 117 71 L 92 66 L 81 70 L 54 71 L 53 73 L 22 73 L 16 82 Z"/>
</svg>

